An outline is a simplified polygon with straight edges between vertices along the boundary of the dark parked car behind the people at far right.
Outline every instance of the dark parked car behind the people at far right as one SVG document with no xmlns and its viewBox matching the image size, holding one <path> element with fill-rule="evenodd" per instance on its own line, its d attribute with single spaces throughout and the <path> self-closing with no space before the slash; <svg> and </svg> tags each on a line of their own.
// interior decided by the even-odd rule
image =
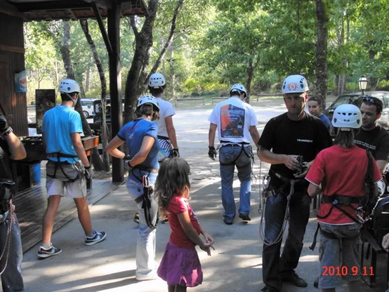
<svg viewBox="0 0 389 292">
<path fill-rule="evenodd" d="M 378 98 L 383 103 L 383 109 L 381 118 L 379 119 L 380 125 L 388 128 L 389 127 L 389 91 L 366 91 L 366 96 L 373 96 Z M 337 106 L 342 104 L 353 104 L 360 108 L 362 104 L 362 93 L 361 92 L 353 92 L 353 93 L 347 93 L 342 96 L 339 96 L 336 98 L 336 100 L 325 110 L 323 110 L 323 113 L 332 120 L 332 116 L 334 114 L 334 110 Z"/>
</svg>

